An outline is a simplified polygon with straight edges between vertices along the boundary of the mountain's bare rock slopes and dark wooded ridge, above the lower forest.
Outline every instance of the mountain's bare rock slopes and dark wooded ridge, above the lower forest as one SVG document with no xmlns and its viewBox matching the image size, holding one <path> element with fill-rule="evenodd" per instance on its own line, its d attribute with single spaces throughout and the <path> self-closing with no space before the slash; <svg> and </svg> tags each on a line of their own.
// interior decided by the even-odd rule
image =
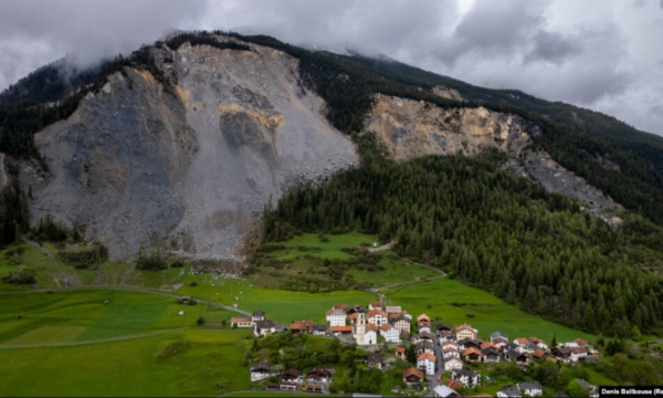
<svg viewBox="0 0 663 398">
<path fill-rule="evenodd" d="M 356 165 L 367 130 L 401 160 L 497 148 L 613 226 L 622 207 L 663 222 L 662 138 L 385 57 L 178 33 L 93 70 L 46 65 L 0 95 L 3 184 L 20 176 L 32 223 L 53 214 L 115 259 L 155 244 L 240 254 L 270 200 Z"/>
</svg>

